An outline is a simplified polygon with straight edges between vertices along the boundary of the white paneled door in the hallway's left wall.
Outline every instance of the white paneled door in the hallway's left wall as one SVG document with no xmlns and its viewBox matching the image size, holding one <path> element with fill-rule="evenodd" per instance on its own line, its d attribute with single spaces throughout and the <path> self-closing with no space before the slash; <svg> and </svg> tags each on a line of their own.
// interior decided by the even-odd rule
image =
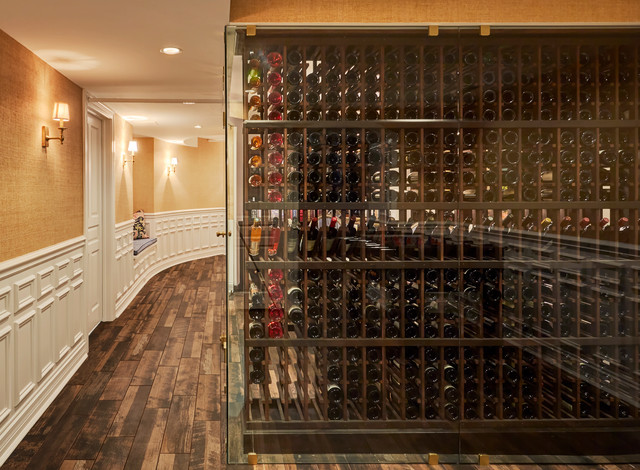
<svg viewBox="0 0 640 470">
<path fill-rule="evenodd" d="M 87 331 L 102 320 L 102 121 L 87 116 Z"/>
</svg>

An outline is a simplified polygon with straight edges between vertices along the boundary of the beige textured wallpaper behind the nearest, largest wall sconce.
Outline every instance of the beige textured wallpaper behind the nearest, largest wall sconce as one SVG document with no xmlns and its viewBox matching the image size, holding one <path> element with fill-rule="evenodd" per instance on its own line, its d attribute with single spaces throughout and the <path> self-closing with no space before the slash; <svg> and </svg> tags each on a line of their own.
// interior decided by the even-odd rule
<svg viewBox="0 0 640 470">
<path fill-rule="evenodd" d="M 71 120 L 45 150 L 56 101 Z M 0 31 L 0 261 L 83 234 L 82 121 L 82 89 Z"/>
</svg>

